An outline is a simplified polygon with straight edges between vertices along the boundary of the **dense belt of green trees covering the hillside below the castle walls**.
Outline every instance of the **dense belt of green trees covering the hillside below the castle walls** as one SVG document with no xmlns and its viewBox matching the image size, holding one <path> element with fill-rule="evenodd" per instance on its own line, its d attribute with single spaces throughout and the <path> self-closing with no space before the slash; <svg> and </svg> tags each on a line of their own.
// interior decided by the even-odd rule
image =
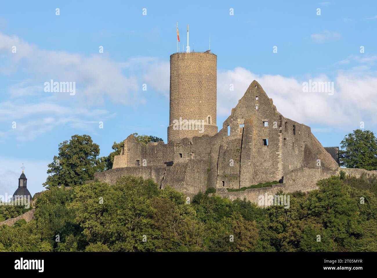
<svg viewBox="0 0 377 278">
<path fill-rule="evenodd" d="M 289 208 L 208 192 L 190 203 L 169 186 L 159 190 L 133 176 L 112 186 L 50 187 L 38 196 L 32 221 L 0 227 L 0 251 L 376 252 L 372 184 L 375 177 L 333 176 L 318 190 L 290 194 Z"/>
</svg>

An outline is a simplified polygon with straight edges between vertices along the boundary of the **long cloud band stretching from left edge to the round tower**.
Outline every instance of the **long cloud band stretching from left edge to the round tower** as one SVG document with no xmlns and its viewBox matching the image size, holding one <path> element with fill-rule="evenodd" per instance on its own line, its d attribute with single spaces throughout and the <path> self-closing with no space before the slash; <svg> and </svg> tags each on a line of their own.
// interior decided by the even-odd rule
<svg viewBox="0 0 377 278">
<path fill-rule="evenodd" d="M 12 53 L 13 46 L 16 47 L 16 53 Z M 139 95 L 143 83 L 169 96 L 170 65 L 156 57 L 134 57 L 127 62 L 114 62 L 106 54 L 85 57 L 64 51 L 43 50 L 17 36 L 6 36 L 1 32 L 0 54 L 0 73 L 12 75 L 22 71 L 28 75 L 27 80 L 9 88 L 8 93 L 13 98 L 43 96 L 65 101 L 78 98 L 77 102 L 98 105 L 103 104 L 105 96 L 109 96 L 116 103 L 137 105 L 146 101 Z M 132 75 L 126 77 L 124 69 Z M 75 82 L 75 96 L 44 93 L 44 82 L 50 82 L 51 79 Z"/>
</svg>

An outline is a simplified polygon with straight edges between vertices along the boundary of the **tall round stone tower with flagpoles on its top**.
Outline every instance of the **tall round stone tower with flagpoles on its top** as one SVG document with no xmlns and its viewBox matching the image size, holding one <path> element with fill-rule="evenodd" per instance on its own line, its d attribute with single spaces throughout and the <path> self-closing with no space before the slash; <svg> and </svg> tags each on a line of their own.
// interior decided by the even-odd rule
<svg viewBox="0 0 377 278">
<path fill-rule="evenodd" d="M 170 120 L 167 141 L 215 135 L 217 56 L 175 53 L 170 56 Z"/>
</svg>

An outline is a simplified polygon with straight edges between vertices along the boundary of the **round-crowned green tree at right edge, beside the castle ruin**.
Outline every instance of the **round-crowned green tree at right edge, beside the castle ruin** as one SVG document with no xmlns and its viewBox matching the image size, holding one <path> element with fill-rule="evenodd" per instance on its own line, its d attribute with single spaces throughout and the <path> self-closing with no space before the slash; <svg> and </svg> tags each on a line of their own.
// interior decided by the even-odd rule
<svg viewBox="0 0 377 278">
<path fill-rule="evenodd" d="M 340 144 L 341 166 L 377 170 L 377 138 L 372 131 L 354 130 L 345 136 Z"/>
</svg>

